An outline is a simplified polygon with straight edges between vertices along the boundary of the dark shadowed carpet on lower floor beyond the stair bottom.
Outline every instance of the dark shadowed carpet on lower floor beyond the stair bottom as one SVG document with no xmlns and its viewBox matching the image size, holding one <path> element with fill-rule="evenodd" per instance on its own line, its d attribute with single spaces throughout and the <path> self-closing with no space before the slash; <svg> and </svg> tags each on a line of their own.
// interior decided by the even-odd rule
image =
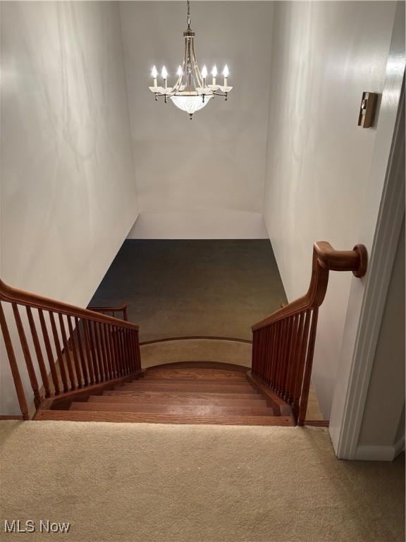
<svg viewBox="0 0 406 542">
<path fill-rule="evenodd" d="M 286 302 L 266 239 L 128 239 L 91 305 L 128 303 L 142 341 L 206 335 L 251 339 L 251 325 Z"/>
</svg>

